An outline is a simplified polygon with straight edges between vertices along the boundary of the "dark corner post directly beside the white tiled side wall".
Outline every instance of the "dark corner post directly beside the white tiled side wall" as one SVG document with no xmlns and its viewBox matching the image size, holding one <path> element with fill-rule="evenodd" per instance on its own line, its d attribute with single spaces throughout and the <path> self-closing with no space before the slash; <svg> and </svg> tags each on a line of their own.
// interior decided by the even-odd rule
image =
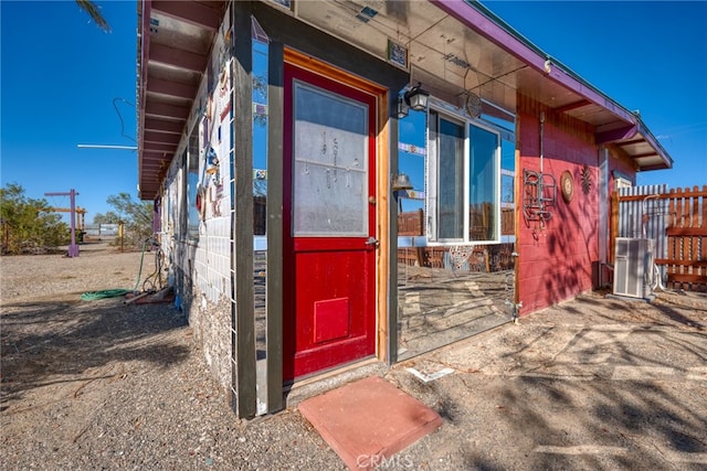
<svg viewBox="0 0 707 471">
<path fill-rule="evenodd" d="M 233 310 L 234 411 L 252 418 L 256 410 L 255 307 L 253 298 L 253 40 L 251 2 L 233 8 L 233 174 L 235 175 Z"/>
</svg>

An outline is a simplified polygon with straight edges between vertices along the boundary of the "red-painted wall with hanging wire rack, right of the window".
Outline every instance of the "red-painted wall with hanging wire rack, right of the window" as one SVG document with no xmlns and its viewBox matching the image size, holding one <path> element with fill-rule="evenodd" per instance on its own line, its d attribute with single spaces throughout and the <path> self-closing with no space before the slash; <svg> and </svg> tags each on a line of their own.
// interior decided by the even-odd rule
<svg viewBox="0 0 707 471">
<path fill-rule="evenodd" d="M 523 302 L 520 314 L 535 312 L 593 288 L 592 269 L 599 260 L 599 162 L 593 133 L 583 126 L 559 121 L 546 114 L 544 126 L 544 173 L 557 181 L 557 199 L 550 221 L 545 227 L 526 221 L 523 215 L 523 174 L 540 170 L 539 113 L 519 116 L 521 215 L 518 229 L 518 290 Z M 603 159 L 603 152 L 601 156 Z M 582 189 L 582 169 L 587 165 L 591 186 Z M 573 176 L 573 197 L 562 199 L 560 175 Z"/>
</svg>

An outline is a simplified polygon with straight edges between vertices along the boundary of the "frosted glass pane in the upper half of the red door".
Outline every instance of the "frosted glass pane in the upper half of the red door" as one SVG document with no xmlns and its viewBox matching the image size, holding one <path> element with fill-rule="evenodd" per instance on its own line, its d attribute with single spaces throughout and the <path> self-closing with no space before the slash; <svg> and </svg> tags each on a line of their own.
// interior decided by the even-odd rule
<svg viewBox="0 0 707 471">
<path fill-rule="evenodd" d="M 368 235 L 368 106 L 295 84 L 293 231 Z"/>
</svg>

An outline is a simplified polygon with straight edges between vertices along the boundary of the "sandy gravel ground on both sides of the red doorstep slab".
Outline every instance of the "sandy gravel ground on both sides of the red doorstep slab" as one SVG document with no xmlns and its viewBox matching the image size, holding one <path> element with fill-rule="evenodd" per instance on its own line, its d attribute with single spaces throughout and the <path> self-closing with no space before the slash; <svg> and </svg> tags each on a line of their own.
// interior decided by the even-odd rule
<svg viewBox="0 0 707 471">
<path fill-rule="evenodd" d="M 173 304 L 81 300 L 151 254 L 81 249 L 0 258 L 2 469 L 345 468 L 296 404 L 235 419 Z M 707 296 L 604 295 L 378 368 L 444 419 L 379 469 L 707 469 Z"/>
</svg>

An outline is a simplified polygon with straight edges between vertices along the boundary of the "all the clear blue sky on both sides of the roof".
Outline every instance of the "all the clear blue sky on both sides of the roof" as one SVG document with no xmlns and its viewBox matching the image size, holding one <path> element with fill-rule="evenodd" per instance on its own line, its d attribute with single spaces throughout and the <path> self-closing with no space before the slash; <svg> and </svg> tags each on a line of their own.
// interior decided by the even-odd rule
<svg viewBox="0 0 707 471">
<path fill-rule="evenodd" d="M 0 182 L 106 199 L 137 196 L 137 154 L 80 149 L 133 146 L 136 111 L 136 4 L 98 1 L 104 33 L 73 1 L 0 1 Z M 707 184 L 707 2 L 506 2 L 485 4 L 519 33 L 631 110 L 675 160 L 640 184 Z M 124 121 L 114 108 L 114 100 Z M 68 197 L 46 197 L 68 207 Z"/>
</svg>

